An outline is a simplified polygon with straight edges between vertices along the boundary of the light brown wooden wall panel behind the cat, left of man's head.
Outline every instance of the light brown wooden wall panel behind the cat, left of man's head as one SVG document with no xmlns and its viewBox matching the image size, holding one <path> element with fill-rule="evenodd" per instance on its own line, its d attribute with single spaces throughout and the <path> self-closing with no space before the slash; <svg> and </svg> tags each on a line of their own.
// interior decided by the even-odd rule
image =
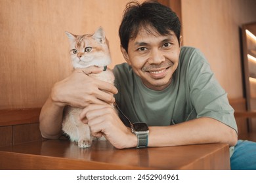
<svg viewBox="0 0 256 183">
<path fill-rule="evenodd" d="M 113 67 L 124 61 L 118 27 L 129 0 L 1 0 L 0 109 L 41 107 L 55 82 L 72 70 L 64 31 L 104 27 Z"/>
</svg>

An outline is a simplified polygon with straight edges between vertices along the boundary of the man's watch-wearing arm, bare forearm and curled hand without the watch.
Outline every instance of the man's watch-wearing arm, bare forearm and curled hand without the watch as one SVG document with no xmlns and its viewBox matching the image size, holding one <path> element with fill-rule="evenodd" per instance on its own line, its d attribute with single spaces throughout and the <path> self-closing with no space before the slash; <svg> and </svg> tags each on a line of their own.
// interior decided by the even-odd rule
<svg viewBox="0 0 256 183">
<path fill-rule="evenodd" d="M 80 115 L 87 118 L 92 135 L 104 135 L 116 148 L 137 146 L 137 137 L 123 122 L 110 105 L 90 105 Z M 169 126 L 149 127 L 148 146 L 181 146 L 223 142 L 234 146 L 237 141 L 235 129 L 213 118 L 197 118 Z"/>
</svg>

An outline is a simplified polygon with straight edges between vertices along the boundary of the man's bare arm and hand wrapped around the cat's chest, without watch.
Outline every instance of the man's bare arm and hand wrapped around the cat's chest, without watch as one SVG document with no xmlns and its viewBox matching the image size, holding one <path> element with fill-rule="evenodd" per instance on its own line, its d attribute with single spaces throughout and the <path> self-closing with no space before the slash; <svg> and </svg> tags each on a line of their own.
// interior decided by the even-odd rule
<svg viewBox="0 0 256 183">
<path fill-rule="evenodd" d="M 108 82 L 87 76 L 100 73 L 103 67 L 77 69 L 72 75 L 54 84 L 51 94 L 41 109 L 39 117 L 41 135 L 57 139 L 62 133 L 62 116 L 66 105 L 85 108 L 91 103 L 114 103 L 117 89 Z"/>
</svg>

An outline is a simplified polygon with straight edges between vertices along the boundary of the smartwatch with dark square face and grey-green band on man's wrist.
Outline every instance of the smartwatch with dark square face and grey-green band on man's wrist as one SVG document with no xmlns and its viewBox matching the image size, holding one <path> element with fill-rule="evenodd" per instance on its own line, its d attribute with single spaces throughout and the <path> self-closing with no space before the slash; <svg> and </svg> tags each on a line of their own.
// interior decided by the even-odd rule
<svg viewBox="0 0 256 183">
<path fill-rule="evenodd" d="M 148 146 L 148 125 L 146 123 L 134 123 L 131 125 L 131 131 L 138 138 L 137 148 L 146 148 Z"/>
</svg>

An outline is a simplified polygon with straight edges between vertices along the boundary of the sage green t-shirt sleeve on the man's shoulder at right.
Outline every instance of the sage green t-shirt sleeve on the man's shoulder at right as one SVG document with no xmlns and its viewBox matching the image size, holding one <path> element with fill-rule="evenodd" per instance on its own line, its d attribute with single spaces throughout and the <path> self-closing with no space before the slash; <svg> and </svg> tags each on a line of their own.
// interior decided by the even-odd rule
<svg viewBox="0 0 256 183">
<path fill-rule="evenodd" d="M 190 58 L 188 86 L 197 118 L 214 118 L 232 127 L 238 133 L 234 109 L 228 103 L 227 93 L 215 78 L 209 63 L 199 50 L 195 50 Z"/>
</svg>

